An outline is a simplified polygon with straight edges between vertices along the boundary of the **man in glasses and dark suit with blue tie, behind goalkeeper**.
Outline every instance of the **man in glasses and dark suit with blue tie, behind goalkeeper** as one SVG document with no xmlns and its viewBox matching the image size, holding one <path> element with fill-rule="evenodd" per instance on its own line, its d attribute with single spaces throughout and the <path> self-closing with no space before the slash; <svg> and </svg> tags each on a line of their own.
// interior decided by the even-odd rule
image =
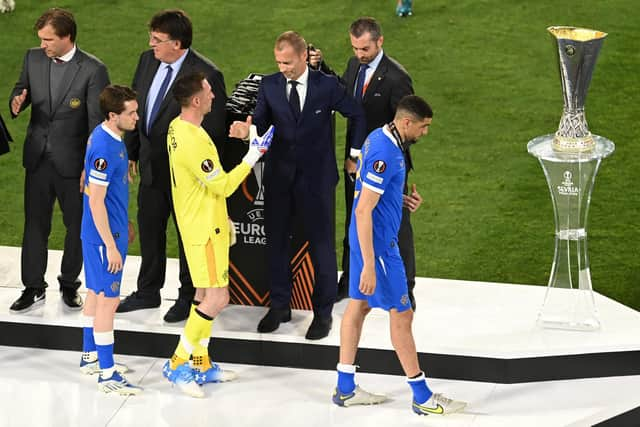
<svg viewBox="0 0 640 427">
<path fill-rule="evenodd" d="M 207 76 L 216 99 L 202 127 L 218 146 L 218 152 L 226 140 L 224 78 L 211 61 L 191 48 L 192 34 L 191 21 L 183 11 L 158 12 L 149 23 L 152 49 L 140 55 L 133 78 L 140 120 L 136 130 L 125 135 L 125 143 L 131 174 L 136 175 L 138 165 L 140 167 L 138 233 L 142 264 L 137 290 L 120 302 L 119 313 L 160 306 L 167 263 L 167 223 L 173 214 L 167 130 L 171 120 L 180 113 L 180 105 L 172 92 L 176 77 L 194 71 L 202 71 Z M 178 245 L 182 286 L 178 300 L 164 317 L 167 322 L 186 319 L 195 294 L 180 236 Z"/>
</svg>

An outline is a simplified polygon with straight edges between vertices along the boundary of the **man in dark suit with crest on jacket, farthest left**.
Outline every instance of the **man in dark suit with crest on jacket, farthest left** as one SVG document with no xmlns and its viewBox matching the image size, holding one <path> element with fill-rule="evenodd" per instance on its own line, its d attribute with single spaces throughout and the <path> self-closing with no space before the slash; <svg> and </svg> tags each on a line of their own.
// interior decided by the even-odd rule
<svg viewBox="0 0 640 427">
<path fill-rule="evenodd" d="M 21 264 L 25 290 L 11 311 L 26 311 L 44 303 L 47 242 L 56 199 L 67 230 L 58 282 L 66 306 L 79 310 L 81 174 L 87 138 L 102 121 L 98 97 L 109 84 L 109 75 L 100 60 L 75 45 L 77 29 L 71 12 L 49 9 L 38 18 L 35 29 L 40 47 L 27 51 L 9 98 L 13 118 L 31 105 L 23 152 L 26 177 Z"/>
</svg>

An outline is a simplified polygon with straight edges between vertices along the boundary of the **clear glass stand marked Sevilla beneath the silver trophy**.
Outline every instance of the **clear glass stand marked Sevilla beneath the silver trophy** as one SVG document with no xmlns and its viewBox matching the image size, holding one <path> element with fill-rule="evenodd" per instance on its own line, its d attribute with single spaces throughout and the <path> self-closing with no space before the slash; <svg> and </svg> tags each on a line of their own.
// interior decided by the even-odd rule
<svg viewBox="0 0 640 427">
<path fill-rule="evenodd" d="M 592 151 L 562 153 L 553 150 L 553 138 L 554 134 L 544 135 L 527 144 L 547 178 L 556 223 L 555 254 L 538 325 L 594 331 L 600 328 L 600 320 L 589 270 L 587 216 L 598 168 L 615 145 L 593 135 Z"/>
</svg>

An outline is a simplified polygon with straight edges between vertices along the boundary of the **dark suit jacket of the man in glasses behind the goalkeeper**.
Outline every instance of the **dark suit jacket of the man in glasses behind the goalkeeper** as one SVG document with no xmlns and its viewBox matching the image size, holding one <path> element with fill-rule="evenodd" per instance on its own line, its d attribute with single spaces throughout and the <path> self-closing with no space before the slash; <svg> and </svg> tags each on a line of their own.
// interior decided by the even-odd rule
<svg viewBox="0 0 640 427">
<path fill-rule="evenodd" d="M 138 115 L 140 120 L 138 120 L 134 131 L 125 134 L 124 140 L 127 145 L 129 160 L 140 162 L 140 184 L 169 191 L 167 130 L 171 121 L 180 114 L 180 104 L 173 97 L 173 84 L 168 89 L 160 105 L 148 135 L 146 131 L 147 96 L 159 66 L 160 61 L 155 58 L 153 50 L 147 50 L 140 55 L 132 84 L 133 89 L 138 93 Z M 225 92 L 224 77 L 211 61 L 194 49 L 189 49 L 187 57 L 176 75 L 176 80 L 180 76 L 194 71 L 202 71 L 207 76 L 207 81 L 215 95 L 211 112 L 204 117 L 202 127 L 216 144 L 218 152 L 221 152 L 228 134 L 225 124 L 227 94 Z"/>
</svg>

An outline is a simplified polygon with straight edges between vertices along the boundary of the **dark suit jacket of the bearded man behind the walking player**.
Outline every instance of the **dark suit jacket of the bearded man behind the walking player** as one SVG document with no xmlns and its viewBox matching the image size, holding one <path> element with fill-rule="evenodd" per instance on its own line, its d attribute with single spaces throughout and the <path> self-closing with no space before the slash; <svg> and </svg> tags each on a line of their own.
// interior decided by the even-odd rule
<svg viewBox="0 0 640 427">
<path fill-rule="evenodd" d="M 358 77 L 360 62 L 355 56 L 349 59 L 342 80 L 349 94 L 353 95 Z M 411 77 L 395 59 L 382 55 L 378 68 L 371 76 L 369 85 L 362 98 L 362 108 L 367 120 L 367 135 L 393 120 L 400 100 L 413 94 Z M 347 140 L 353 132 L 353 123 L 347 122 Z M 348 157 L 349 150 L 345 152 Z"/>
</svg>

